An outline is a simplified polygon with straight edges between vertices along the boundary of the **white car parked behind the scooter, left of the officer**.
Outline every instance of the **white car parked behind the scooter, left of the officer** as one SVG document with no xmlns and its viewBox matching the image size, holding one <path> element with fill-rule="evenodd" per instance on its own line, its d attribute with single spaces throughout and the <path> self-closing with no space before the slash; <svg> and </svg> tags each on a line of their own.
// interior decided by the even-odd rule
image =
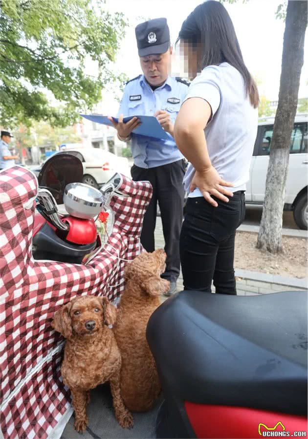
<svg viewBox="0 0 308 439">
<path fill-rule="evenodd" d="M 118 157 L 99 148 L 77 148 L 65 147 L 59 153 L 72 154 L 78 157 L 84 168 L 83 183 L 89 184 L 96 188 L 106 183 L 116 172 L 130 177 L 131 170 L 129 161 L 126 157 Z M 37 176 L 41 167 L 32 169 Z"/>
</svg>

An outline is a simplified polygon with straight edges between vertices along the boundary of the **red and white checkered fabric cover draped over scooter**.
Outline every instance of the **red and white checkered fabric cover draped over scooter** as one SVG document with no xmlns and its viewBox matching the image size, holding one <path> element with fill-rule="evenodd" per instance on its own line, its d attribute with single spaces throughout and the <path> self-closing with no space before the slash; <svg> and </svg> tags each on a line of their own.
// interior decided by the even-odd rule
<svg viewBox="0 0 308 439">
<path fill-rule="evenodd" d="M 0 426 L 5 439 L 44 439 L 70 406 L 60 374 L 63 338 L 50 326 L 57 309 L 76 295 L 124 289 L 125 262 L 140 252 L 149 182 L 123 177 L 111 207 L 115 224 L 88 265 L 35 261 L 32 228 L 36 177 L 14 166 L 0 172 Z"/>
</svg>

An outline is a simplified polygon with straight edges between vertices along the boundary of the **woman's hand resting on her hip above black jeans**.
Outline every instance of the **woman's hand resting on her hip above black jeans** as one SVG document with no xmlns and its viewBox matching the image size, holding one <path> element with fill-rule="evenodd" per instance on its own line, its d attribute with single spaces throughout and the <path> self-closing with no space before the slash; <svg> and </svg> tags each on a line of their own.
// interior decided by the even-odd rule
<svg viewBox="0 0 308 439">
<path fill-rule="evenodd" d="M 204 171 L 195 172 L 190 191 L 193 192 L 198 188 L 206 201 L 212 204 L 212 206 L 217 207 L 218 203 L 211 197 L 211 195 L 214 195 L 216 198 L 219 198 L 226 203 L 229 201 L 229 198 L 226 196 L 233 197 L 233 193 L 225 189 L 223 186 L 232 187 L 233 184 L 220 178 L 216 169 L 211 166 Z"/>
</svg>

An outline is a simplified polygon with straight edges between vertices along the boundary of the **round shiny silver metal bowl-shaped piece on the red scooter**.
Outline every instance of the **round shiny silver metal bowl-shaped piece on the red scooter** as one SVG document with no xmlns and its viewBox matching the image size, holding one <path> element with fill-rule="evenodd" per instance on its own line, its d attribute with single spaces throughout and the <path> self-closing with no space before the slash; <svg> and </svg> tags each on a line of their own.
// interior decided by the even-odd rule
<svg viewBox="0 0 308 439">
<path fill-rule="evenodd" d="M 64 190 L 63 202 L 66 211 L 73 217 L 91 219 L 102 211 L 105 197 L 88 184 L 70 183 Z"/>
</svg>

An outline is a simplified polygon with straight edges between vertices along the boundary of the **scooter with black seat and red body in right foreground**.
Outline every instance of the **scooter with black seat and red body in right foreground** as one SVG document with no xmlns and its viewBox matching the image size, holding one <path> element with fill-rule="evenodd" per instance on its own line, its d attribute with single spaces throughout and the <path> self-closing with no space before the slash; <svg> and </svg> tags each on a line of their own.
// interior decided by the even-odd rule
<svg viewBox="0 0 308 439">
<path fill-rule="evenodd" d="M 182 291 L 147 327 L 157 438 L 307 437 L 307 292 Z"/>
</svg>

